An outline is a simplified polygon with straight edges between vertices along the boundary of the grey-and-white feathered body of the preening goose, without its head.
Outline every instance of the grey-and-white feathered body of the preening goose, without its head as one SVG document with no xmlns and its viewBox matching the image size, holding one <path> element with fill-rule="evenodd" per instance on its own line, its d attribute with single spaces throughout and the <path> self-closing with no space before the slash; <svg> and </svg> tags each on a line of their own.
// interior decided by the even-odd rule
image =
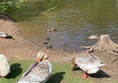
<svg viewBox="0 0 118 83">
<path fill-rule="evenodd" d="M 49 61 L 44 60 L 38 64 L 32 65 L 27 71 L 23 74 L 18 83 L 22 83 L 21 81 L 45 83 L 51 75 L 52 65 Z"/>
</svg>

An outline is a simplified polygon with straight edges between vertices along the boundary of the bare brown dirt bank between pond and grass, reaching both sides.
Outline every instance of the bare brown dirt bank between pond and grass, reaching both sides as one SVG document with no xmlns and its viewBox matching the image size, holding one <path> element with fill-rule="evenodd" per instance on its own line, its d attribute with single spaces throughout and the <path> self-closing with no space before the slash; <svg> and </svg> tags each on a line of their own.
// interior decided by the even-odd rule
<svg viewBox="0 0 118 83">
<path fill-rule="evenodd" d="M 0 38 L 0 53 L 7 56 L 10 59 L 16 60 L 36 60 L 36 55 L 39 50 L 44 50 L 49 55 L 50 61 L 70 63 L 73 56 L 78 56 L 81 52 L 63 52 L 59 50 L 50 50 L 43 47 L 39 47 L 29 41 L 26 41 L 22 35 L 18 24 L 11 21 L 0 20 L 0 32 L 5 32 L 12 35 L 15 40 Z M 110 55 L 107 53 L 95 53 L 103 63 L 106 64 L 102 68 L 104 76 L 110 76 L 113 79 L 118 79 L 118 56 Z"/>
</svg>

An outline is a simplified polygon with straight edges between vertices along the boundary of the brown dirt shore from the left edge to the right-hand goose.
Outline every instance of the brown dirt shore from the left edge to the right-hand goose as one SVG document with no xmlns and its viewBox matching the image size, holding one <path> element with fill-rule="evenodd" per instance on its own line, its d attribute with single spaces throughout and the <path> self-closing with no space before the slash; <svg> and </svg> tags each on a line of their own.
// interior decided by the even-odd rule
<svg viewBox="0 0 118 83">
<path fill-rule="evenodd" d="M 0 38 L 0 53 L 7 56 L 8 59 L 35 60 L 39 50 L 47 52 L 50 61 L 70 62 L 73 56 L 72 52 L 38 47 L 32 42 L 25 40 L 22 35 L 20 35 L 18 24 L 12 21 L 0 20 L 0 27 L 1 32 L 5 32 L 15 38 L 15 40 Z"/>
</svg>

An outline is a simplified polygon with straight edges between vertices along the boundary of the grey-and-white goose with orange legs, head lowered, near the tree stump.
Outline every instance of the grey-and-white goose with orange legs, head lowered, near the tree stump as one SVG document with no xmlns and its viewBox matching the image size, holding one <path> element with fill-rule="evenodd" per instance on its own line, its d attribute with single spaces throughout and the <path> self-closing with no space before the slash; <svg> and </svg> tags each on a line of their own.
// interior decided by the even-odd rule
<svg viewBox="0 0 118 83">
<path fill-rule="evenodd" d="M 82 76 L 84 79 L 87 78 L 89 74 L 97 73 L 100 70 L 100 67 L 104 65 L 105 64 L 103 64 L 93 53 L 83 53 L 72 59 L 72 70 L 75 70 L 78 66 L 84 71 L 84 75 Z"/>
</svg>

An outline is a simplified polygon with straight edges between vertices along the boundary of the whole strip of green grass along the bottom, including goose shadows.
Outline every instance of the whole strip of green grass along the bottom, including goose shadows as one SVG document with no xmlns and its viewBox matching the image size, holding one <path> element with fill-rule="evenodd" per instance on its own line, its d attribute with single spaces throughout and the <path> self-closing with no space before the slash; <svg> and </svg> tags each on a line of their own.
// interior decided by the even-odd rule
<svg viewBox="0 0 118 83">
<path fill-rule="evenodd" d="M 10 60 L 11 72 L 4 78 L 0 78 L 0 83 L 17 83 L 17 80 L 25 72 L 33 61 Z M 88 79 L 80 78 L 83 72 L 81 70 L 71 71 L 68 63 L 52 62 L 53 73 L 47 83 L 117 83 L 118 80 L 113 79 L 96 79 L 89 77 Z"/>
</svg>

